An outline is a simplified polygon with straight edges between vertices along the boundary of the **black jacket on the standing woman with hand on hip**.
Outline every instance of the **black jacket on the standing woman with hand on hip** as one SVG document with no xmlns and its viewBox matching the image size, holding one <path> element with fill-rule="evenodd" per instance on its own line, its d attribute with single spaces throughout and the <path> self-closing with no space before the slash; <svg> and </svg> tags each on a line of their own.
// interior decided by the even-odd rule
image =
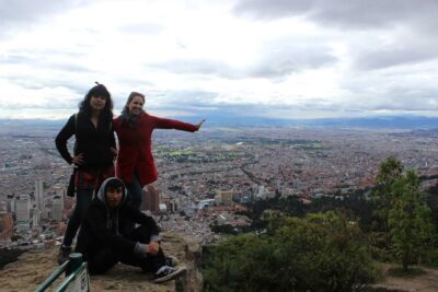
<svg viewBox="0 0 438 292">
<path fill-rule="evenodd" d="M 59 154 L 69 163 L 72 156 L 67 149 L 67 141 L 74 135 L 74 156 L 83 154 L 83 164 L 80 168 L 103 168 L 111 166 L 114 153 L 111 148 L 116 148 L 114 127 L 112 120 L 99 120 L 97 129 L 90 118 L 83 114 L 72 115 L 55 139 Z"/>
</svg>

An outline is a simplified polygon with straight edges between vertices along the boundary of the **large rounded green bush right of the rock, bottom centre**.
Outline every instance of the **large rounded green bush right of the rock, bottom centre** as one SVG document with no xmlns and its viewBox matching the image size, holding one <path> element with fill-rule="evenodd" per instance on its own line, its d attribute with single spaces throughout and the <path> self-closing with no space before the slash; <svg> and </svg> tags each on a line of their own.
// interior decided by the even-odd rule
<svg viewBox="0 0 438 292">
<path fill-rule="evenodd" d="M 206 291 L 353 291 L 378 277 L 357 222 L 335 212 L 267 217 L 266 234 L 232 236 L 209 250 Z"/>
</svg>

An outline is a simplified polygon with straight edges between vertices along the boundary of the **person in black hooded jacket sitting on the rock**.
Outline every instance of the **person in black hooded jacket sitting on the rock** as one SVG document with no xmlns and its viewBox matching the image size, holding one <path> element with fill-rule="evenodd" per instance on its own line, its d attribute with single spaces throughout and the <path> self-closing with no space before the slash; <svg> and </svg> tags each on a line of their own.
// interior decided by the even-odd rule
<svg viewBox="0 0 438 292">
<path fill-rule="evenodd" d="M 104 273 L 119 261 L 154 272 L 157 283 L 184 273 L 185 268 L 173 267 L 174 258 L 164 256 L 155 221 L 125 200 L 124 183 L 107 178 L 84 214 L 76 252 L 89 262 L 90 275 Z M 127 220 L 139 226 L 124 234 Z"/>
</svg>

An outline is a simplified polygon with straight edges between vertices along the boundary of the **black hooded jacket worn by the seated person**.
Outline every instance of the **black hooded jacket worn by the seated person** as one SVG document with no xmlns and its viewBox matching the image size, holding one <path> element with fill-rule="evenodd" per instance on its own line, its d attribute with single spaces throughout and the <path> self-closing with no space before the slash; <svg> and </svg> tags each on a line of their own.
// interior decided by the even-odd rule
<svg viewBox="0 0 438 292">
<path fill-rule="evenodd" d="M 155 221 L 137 208 L 126 203 L 126 194 L 124 194 L 124 199 L 116 209 L 111 210 L 106 206 L 104 191 L 110 179 L 118 178 L 108 178 L 102 184 L 97 196 L 91 202 L 82 220 L 76 250 L 82 253 L 84 259 L 103 247 L 134 252 L 136 242 L 127 238 L 123 231 L 128 219 L 145 225 L 152 234 L 152 237 L 159 237 L 159 227 Z"/>
</svg>

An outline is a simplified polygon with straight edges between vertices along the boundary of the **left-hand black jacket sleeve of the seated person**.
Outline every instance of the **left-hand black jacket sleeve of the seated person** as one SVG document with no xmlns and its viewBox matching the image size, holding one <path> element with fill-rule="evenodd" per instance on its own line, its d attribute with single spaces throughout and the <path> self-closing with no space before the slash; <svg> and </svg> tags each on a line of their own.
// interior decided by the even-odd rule
<svg viewBox="0 0 438 292">
<path fill-rule="evenodd" d="M 106 226 L 106 212 L 103 208 L 91 206 L 84 220 L 90 226 L 90 232 L 94 235 L 94 238 L 96 238 L 97 244 L 102 246 L 110 245 L 122 250 L 134 250 L 136 242 L 115 234 Z"/>
</svg>

